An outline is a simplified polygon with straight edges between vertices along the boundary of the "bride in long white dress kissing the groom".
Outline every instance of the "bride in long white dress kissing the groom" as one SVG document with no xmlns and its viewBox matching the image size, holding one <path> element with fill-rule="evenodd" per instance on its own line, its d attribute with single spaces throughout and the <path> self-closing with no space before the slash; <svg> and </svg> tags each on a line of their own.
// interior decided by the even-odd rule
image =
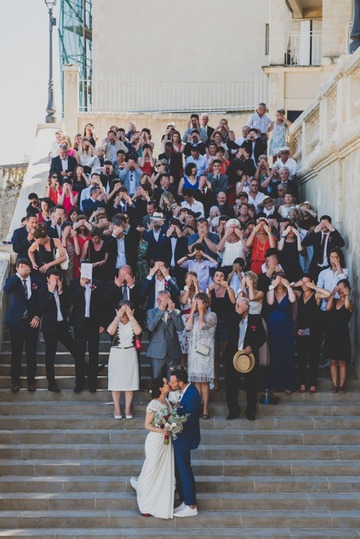
<svg viewBox="0 0 360 539">
<path fill-rule="evenodd" d="M 156 518 L 173 518 L 175 492 L 175 465 L 171 436 L 164 444 L 166 431 L 160 427 L 172 412 L 167 400 L 170 391 L 166 378 L 150 383 L 152 401 L 146 408 L 145 428 L 150 431 L 145 441 L 145 461 L 139 477 L 130 479 L 136 490 L 140 513 Z"/>
</svg>

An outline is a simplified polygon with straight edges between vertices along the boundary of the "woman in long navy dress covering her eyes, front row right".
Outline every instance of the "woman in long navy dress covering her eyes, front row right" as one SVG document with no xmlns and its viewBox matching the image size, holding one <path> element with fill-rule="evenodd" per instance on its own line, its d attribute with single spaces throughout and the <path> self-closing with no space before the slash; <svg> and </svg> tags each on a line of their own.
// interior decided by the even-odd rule
<svg viewBox="0 0 360 539">
<path fill-rule="evenodd" d="M 290 395 L 295 383 L 295 336 L 292 304 L 296 296 L 285 274 L 278 272 L 267 293 L 270 348 L 269 387 Z"/>
</svg>

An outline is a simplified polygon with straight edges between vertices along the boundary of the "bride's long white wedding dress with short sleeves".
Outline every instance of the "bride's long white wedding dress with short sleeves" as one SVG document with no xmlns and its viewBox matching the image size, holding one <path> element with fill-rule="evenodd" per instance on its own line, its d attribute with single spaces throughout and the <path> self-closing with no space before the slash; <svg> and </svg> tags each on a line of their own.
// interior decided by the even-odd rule
<svg viewBox="0 0 360 539">
<path fill-rule="evenodd" d="M 167 415 L 171 405 L 161 404 L 153 399 L 147 406 L 147 412 Z M 154 422 L 154 426 L 158 425 Z M 145 441 L 145 461 L 136 480 L 137 503 L 140 513 L 156 518 L 173 518 L 175 465 L 171 436 L 169 445 L 164 445 L 164 434 L 149 432 Z"/>
</svg>

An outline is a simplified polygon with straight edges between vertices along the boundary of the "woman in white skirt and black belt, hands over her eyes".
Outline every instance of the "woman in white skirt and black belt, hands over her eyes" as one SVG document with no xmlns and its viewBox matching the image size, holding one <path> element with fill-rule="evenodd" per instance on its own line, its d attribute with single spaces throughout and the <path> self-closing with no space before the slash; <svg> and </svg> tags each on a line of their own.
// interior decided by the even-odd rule
<svg viewBox="0 0 360 539">
<path fill-rule="evenodd" d="M 119 307 L 107 328 L 109 335 L 114 335 L 109 356 L 108 389 L 114 401 L 114 418 L 122 419 L 120 392 L 125 391 L 125 417 L 132 419 L 133 394 L 139 390 L 139 364 L 134 341 L 142 329 L 134 318 L 134 308 L 129 301 L 122 300 Z"/>
</svg>

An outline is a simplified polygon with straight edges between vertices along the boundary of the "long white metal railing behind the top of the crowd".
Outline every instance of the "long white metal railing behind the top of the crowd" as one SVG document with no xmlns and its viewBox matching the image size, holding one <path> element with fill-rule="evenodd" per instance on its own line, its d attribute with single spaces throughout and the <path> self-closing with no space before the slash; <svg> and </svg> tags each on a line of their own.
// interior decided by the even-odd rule
<svg viewBox="0 0 360 539">
<path fill-rule="evenodd" d="M 235 81 L 81 80 L 81 112 L 232 112 L 255 110 L 269 97 L 267 77 Z"/>
</svg>

